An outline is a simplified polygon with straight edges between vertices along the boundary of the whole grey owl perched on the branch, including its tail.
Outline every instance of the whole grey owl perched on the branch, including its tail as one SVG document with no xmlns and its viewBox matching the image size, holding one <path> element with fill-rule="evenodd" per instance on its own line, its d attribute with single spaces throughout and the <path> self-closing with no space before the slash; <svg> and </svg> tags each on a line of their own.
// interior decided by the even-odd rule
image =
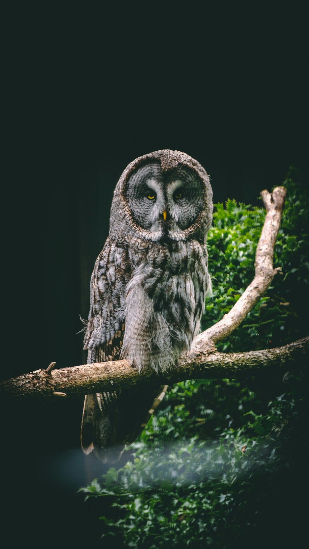
<svg viewBox="0 0 309 549">
<path fill-rule="evenodd" d="M 125 358 L 167 371 L 200 330 L 212 188 L 185 153 L 158 150 L 126 167 L 114 191 L 109 235 L 90 283 L 87 362 Z M 167 385 L 85 396 L 84 452 L 117 461 L 162 401 Z"/>
</svg>

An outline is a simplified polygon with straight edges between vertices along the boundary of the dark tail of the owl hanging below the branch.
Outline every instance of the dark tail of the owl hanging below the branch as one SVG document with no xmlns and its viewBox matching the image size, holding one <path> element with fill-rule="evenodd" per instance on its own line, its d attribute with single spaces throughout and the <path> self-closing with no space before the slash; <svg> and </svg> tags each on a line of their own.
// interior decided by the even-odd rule
<svg viewBox="0 0 309 549">
<path fill-rule="evenodd" d="M 167 387 L 86 395 L 81 423 L 82 450 L 86 454 L 94 451 L 103 463 L 118 461 L 124 446 L 134 442 L 144 429 Z"/>
</svg>

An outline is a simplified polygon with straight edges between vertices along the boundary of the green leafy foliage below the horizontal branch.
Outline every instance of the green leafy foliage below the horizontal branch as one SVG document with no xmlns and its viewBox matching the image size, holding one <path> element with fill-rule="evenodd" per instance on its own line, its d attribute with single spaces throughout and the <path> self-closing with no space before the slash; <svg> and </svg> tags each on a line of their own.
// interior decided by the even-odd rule
<svg viewBox="0 0 309 549">
<path fill-rule="evenodd" d="M 297 402 L 305 388 L 303 380 L 289 380 L 273 400 L 269 394 L 278 390 L 277 381 L 268 390 L 257 384 L 255 392 L 229 379 L 174 386 L 165 407 L 163 402 L 128 449 L 133 461 L 84 489 L 104 496 L 103 537 L 150 548 L 202 544 L 209 537 L 220 547 L 226 536 L 251 528 L 246 512 L 252 516 L 259 508 L 252 498 L 257 478 L 264 485 L 258 498 L 266 505 L 270 479 L 293 465 L 291 437 L 302 423 Z"/>
</svg>

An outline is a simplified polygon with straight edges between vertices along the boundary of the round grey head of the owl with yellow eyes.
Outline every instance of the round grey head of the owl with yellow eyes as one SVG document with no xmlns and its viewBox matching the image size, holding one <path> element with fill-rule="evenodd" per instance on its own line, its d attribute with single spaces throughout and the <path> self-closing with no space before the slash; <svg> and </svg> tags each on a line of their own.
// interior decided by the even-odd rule
<svg viewBox="0 0 309 549">
<path fill-rule="evenodd" d="M 134 160 L 120 177 L 110 236 L 117 240 L 119 234 L 134 233 L 151 242 L 204 240 L 212 209 L 212 188 L 203 167 L 185 153 L 158 150 Z"/>
</svg>

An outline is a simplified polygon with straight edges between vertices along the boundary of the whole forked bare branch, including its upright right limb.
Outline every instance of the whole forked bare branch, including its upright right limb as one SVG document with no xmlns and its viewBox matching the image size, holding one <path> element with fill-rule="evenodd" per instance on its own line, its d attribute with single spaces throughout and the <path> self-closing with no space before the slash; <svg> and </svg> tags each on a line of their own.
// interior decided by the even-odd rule
<svg viewBox="0 0 309 549">
<path fill-rule="evenodd" d="M 233 309 L 222 320 L 207 329 L 194 341 L 190 354 L 164 374 L 145 370 L 139 372 L 125 360 L 87 364 L 73 368 L 38 370 L 0 383 L 0 391 L 14 396 L 34 396 L 44 399 L 55 396 L 80 395 L 143 386 L 147 383 L 172 384 L 188 378 L 239 378 L 267 367 L 284 367 L 299 360 L 308 351 L 309 337 L 281 348 L 225 354 L 215 352 L 217 341 L 227 337 L 244 320 L 271 283 L 280 267 L 273 268 L 273 252 L 285 198 L 285 188 L 273 193 L 262 191 L 266 219 L 257 245 L 255 277 Z"/>
</svg>

